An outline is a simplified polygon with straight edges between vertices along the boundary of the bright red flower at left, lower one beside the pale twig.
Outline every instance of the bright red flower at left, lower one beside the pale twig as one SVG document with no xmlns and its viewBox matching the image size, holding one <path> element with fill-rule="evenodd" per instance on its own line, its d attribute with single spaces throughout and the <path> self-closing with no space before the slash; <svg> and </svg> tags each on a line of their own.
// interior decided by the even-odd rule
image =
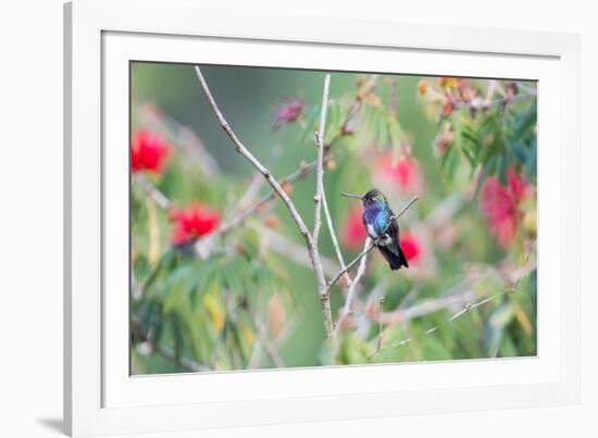
<svg viewBox="0 0 598 438">
<path fill-rule="evenodd" d="M 170 220 L 174 223 L 171 243 L 178 246 L 212 233 L 220 222 L 220 215 L 198 203 L 184 210 L 172 209 Z"/>
</svg>

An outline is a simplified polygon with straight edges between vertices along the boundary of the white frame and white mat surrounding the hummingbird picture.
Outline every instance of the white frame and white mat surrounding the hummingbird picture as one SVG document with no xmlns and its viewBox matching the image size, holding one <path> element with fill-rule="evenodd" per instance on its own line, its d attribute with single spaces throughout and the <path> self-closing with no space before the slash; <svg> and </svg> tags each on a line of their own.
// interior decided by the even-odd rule
<svg viewBox="0 0 598 438">
<path fill-rule="evenodd" d="M 77 0 L 65 5 L 64 42 L 64 424 L 68 434 L 578 402 L 577 36 L 248 17 L 209 11 L 185 0 Z M 538 79 L 543 143 L 538 155 L 538 356 L 130 377 L 128 247 L 124 247 L 128 223 L 123 220 L 128 204 L 126 193 L 119 195 L 126 191 L 120 187 L 128 184 L 128 173 L 119 163 L 128 159 L 130 60 Z M 544 241 L 550 241 L 550 247 Z"/>
</svg>

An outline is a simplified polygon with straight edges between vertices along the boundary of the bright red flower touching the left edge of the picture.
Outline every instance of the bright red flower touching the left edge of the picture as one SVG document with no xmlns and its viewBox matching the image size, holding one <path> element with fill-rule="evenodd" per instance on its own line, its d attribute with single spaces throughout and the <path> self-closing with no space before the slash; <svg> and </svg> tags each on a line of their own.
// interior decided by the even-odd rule
<svg viewBox="0 0 598 438">
<path fill-rule="evenodd" d="M 130 168 L 133 173 L 160 173 L 169 155 L 170 146 L 158 134 L 139 129 L 130 141 Z"/>
</svg>

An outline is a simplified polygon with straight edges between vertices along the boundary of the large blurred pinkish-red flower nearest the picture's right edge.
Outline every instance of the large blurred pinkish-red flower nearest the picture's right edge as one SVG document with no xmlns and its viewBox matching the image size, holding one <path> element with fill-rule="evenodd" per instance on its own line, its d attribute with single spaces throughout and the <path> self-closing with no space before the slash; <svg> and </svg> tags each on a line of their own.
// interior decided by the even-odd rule
<svg viewBox="0 0 598 438">
<path fill-rule="evenodd" d="M 513 242 L 522 222 L 520 205 L 530 196 L 533 186 L 524 176 L 518 176 L 511 168 L 507 172 L 507 186 L 498 178 L 488 177 L 482 187 L 481 210 L 486 217 L 490 233 L 502 247 Z"/>
</svg>

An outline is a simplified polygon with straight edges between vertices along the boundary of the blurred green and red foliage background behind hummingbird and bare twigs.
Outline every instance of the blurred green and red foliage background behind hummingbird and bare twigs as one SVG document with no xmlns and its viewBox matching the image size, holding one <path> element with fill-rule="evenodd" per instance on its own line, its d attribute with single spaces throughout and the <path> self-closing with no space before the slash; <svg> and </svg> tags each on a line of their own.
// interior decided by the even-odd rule
<svg viewBox="0 0 598 438">
<path fill-rule="evenodd" d="M 536 354 L 536 84 L 332 73 L 325 188 L 346 262 L 381 189 L 409 270 L 373 251 L 326 341 L 295 223 L 235 152 L 191 65 L 132 64 L 132 373 Z M 323 72 L 201 66 L 311 228 Z M 323 224 L 327 278 L 339 271 Z M 354 277 L 356 270 L 352 271 Z M 346 281 L 332 291 L 339 321 Z"/>
</svg>

